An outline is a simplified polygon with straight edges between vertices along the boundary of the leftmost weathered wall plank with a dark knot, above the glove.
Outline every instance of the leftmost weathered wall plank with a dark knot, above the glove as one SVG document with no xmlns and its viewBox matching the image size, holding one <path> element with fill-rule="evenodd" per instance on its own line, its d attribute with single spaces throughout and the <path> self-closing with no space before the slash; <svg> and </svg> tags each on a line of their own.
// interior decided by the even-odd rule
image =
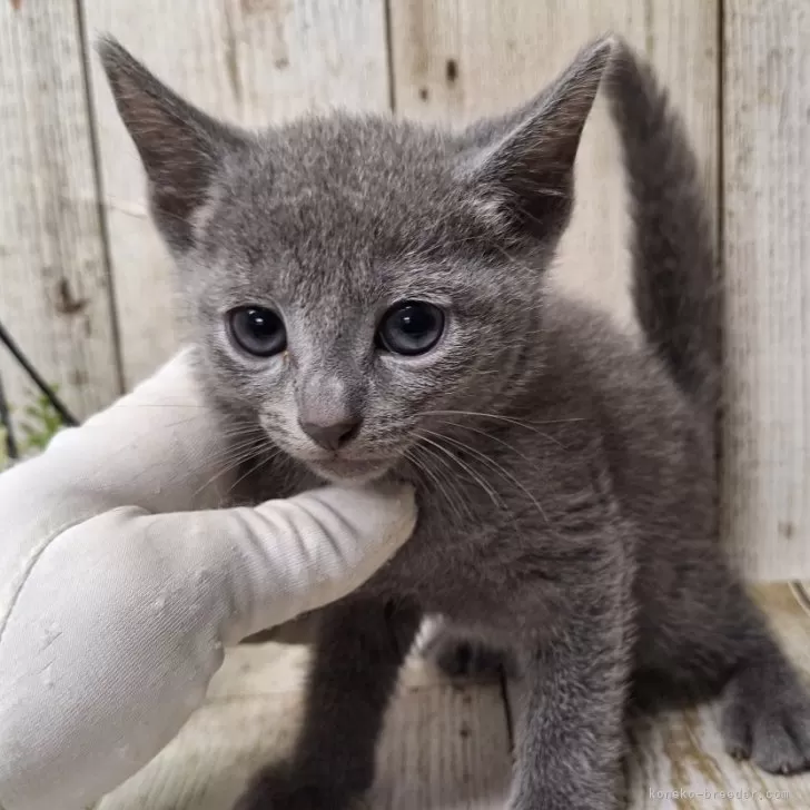
<svg viewBox="0 0 810 810">
<path fill-rule="evenodd" d="M 0 3 L 0 319 L 80 416 L 119 393 L 90 132 L 73 4 Z"/>
</svg>

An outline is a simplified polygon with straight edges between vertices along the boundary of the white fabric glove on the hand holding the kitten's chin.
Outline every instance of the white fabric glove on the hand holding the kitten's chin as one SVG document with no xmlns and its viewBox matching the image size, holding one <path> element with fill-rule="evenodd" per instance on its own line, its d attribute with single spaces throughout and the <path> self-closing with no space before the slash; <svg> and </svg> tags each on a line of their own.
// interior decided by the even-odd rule
<svg viewBox="0 0 810 810">
<path fill-rule="evenodd" d="M 0 475 L 0 808 L 78 810 L 200 704 L 223 646 L 357 587 L 406 490 L 217 508 L 231 476 L 185 350 Z"/>
</svg>

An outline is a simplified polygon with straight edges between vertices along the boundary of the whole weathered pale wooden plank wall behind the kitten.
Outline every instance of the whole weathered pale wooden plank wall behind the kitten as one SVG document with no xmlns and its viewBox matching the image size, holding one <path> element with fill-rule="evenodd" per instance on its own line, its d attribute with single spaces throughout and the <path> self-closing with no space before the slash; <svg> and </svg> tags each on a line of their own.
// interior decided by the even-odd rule
<svg viewBox="0 0 810 810">
<path fill-rule="evenodd" d="M 728 542 L 751 577 L 808 577 L 808 0 L 0 0 L 0 319 L 82 416 L 181 339 L 98 32 L 205 109 L 261 125 L 334 106 L 468 120 L 534 93 L 609 29 L 671 87 L 717 214 Z M 579 172 L 559 283 L 632 328 L 601 110 Z M 21 407 L 28 389 L 2 354 L 0 375 Z"/>
</svg>

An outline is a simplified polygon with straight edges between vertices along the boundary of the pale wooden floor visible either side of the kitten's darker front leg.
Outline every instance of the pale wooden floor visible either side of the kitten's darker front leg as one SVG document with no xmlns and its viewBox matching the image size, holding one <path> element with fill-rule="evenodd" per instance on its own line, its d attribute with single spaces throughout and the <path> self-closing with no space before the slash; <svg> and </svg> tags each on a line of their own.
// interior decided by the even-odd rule
<svg viewBox="0 0 810 810">
<path fill-rule="evenodd" d="M 302 719 L 306 648 L 229 652 L 206 705 L 97 810 L 226 810 L 253 772 L 283 759 Z M 497 686 L 455 686 L 415 662 L 403 675 L 369 810 L 500 810 L 510 778 Z"/>
</svg>

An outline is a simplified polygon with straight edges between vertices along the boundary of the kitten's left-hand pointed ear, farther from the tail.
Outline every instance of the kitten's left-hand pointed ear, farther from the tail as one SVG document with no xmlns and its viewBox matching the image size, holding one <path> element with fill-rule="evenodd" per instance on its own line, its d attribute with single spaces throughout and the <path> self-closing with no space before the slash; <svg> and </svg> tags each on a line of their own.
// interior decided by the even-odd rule
<svg viewBox="0 0 810 810">
<path fill-rule="evenodd" d="M 149 180 L 152 215 L 169 246 L 192 244 L 192 215 L 208 200 L 223 155 L 241 142 L 162 85 L 115 39 L 98 42 L 118 111 Z"/>
</svg>

